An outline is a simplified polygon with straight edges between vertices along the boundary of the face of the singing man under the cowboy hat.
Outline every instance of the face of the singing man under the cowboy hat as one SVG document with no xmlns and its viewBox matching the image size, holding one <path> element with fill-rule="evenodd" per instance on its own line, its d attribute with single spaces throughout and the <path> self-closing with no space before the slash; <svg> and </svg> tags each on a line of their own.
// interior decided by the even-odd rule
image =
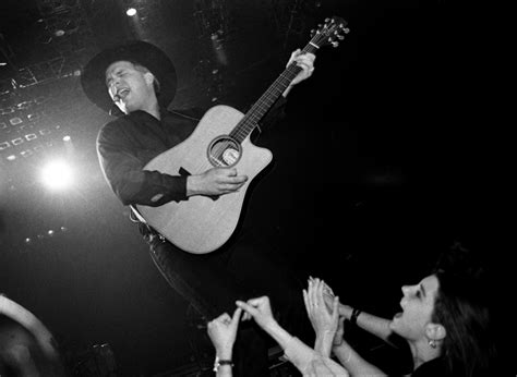
<svg viewBox="0 0 517 377">
<path fill-rule="evenodd" d="M 145 110 L 154 97 L 152 74 L 129 61 L 117 61 L 108 66 L 106 85 L 109 96 L 124 113 Z"/>
</svg>

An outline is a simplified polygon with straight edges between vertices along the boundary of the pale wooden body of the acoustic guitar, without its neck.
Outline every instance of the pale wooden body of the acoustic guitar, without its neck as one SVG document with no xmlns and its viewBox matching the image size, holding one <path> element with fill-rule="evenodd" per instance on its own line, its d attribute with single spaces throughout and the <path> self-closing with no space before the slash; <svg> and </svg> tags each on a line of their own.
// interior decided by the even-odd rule
<svg viewBox="0 0 517 377">
<path fill-rule="evenodd" d="M 228 106 L 211 108 L 192 135 L 155 157 L 144 169 L 181 175 L 200 174 L 214 168 L 217 165 L 208 156 L 211 145 L 214 146 L 214 141 L 220 136 L 229 135 L 243 117 Z M 239 222 L 249 184 L 273 158 L 269 150 L 253 145 L 249 136 L 239 147 L 237 161 L 228 165 L 239 174 L 248 175 L 247 183 L 238 192 L 218 197 L 196 195 L 159 207 L 137 205 L 147 223 L 172 244 L 192 254 L 206 254 L 220 247 Z M 231 158 L 235 158 L 233 154 Z"/>
</svg>

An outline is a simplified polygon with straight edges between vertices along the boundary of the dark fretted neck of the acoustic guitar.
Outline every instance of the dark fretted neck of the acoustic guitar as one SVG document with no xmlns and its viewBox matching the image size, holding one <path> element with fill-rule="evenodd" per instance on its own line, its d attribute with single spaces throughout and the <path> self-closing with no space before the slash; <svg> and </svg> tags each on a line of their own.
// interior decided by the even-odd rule
<svg viewBox="0 0 517 377">
<path fill-rule="evenodd" d="M 301 51 L 301 53 L 315 53 L 318 47 L 310 41 Z M 290 63 L 278 78 L 267 88 L 267 90 L 258 98 L 258 100 L 245 113 L 244 118 L 236 125 L 230 136 L 239 143 L 242 143 L 248 135 L 257 126 L 261 119 L 267 110 L 275 104 L 280 95 L 288 88 L 289 84 L 294 80 L 301 68 L 296 62 Z"/>
</svg>

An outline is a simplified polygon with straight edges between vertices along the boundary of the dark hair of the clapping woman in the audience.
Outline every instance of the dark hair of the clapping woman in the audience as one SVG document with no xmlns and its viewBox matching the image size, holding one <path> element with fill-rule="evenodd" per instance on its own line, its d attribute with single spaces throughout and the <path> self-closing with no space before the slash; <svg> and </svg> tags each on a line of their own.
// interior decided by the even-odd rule
<svg viewBox="0 0 517 377">
<path fill-rule="evenodd" d="M 440 289 L 432 320 L 446 329 L 442 352 L 450 375 L 486 374 L 495 346 L 489 329 L 488 288 L 482 267 L 470 259 L 469 251 L 457 244 L 442 256 L 434 273 Z"/>
</svg>

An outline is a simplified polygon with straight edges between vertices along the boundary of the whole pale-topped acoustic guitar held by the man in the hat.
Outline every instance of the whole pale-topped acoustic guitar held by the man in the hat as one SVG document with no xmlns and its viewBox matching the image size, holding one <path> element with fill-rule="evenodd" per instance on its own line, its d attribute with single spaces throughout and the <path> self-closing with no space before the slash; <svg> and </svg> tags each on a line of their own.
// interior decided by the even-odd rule
<svg viewBox="0 0 517 377">
<path fill-rule="evenodd" d="M 327 45 L 337 47 L 349 32 L 346 26 L 340 17 L 326 19 L 312 31 L 302 53 L 315 53 Z M 250 134 L 300 70 L 296 62 L 289 64 L 245 114 L 229 106 L 211 108 L 185 141 L 144 167 L 171 175 L 200 174 L 214 167 L 236 168 L 249 178 L 239 191 L 217 197 L 191 196 L 159 207 L 137 205 L 145 222 L 188 253 L 206 254 L 225 244 L 237 228 L 250 183 L 273 158 L 268 149 L 252 144 Z"/>
</svg>

